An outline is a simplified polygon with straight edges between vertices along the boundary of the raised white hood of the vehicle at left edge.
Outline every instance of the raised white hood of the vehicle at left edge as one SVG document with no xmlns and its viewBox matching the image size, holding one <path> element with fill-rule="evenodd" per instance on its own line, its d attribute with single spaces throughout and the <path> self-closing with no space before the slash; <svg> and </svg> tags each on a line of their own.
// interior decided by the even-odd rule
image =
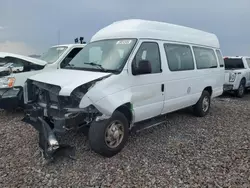
<svg viewBox="0 0 250 188">
<path fill-rule="evenodd" d="M 30 63 L 34 63 L 36 65 L 41 65 L 41 66 L 45 66 L 47 64 L 46 61 L 43 61 L 41 59 L 36 59 L 36 58 L 32 58 L 32 57 L 28 57 L 28 56 L 24 56 L 24 55 L 19 55 L 19 54 L 0 52 L 0 58 L 6 58 L 6 57 L 21 59 L 21 60 L 28 61 Z"/>
</svg>

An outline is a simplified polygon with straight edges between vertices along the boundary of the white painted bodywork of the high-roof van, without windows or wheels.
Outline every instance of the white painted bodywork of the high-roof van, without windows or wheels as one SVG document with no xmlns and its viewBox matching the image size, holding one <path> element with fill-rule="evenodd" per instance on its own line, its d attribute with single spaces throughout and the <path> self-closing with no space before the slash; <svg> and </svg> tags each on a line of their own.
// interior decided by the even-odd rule
<svg viewBox="0 0 250 188">
<path fill-rule="evenodd" d="M 53 74 L 49 72 L 38 74 L 30 77 L 30 79 L 60 86 L 61 90 L 59 94 L 70 96 L 71 92 L 80 85 L 109 75 L 109 77 L 103 80 L 94 82 L 91 89 L 81 99 L 79 108 L 85 108 L 86 105 L 92 103 L 102 113 L 110 116 L 119 106 L 130 103 L 133 105 L 135 122 L 192 106 L 197 103 L 206 87 L 212 88 L 212 98 L 222 94 L 224 68 L 220 68 L 217 62 L 216 68 L 197 69 L 193 52 L 193 46 L 206 47 L 214 51 L 218 50 L 219 43 L 214 34 L 187 27 L 178 27 L 172 24 L 159 24 L 157 22 L 144 22 L 142 20 L 128 20 L 127 22 L 129 23 L 127 29 L 121 29 L 120 26 L 123 22 L 117 22 L 100 30 L 91 39 L 91 42 L 113 38 L 122 39 L 132 37 L 138 39 L 120 74 L 105 74 L 81 70 L 58 70 L 53 72 Z M 140 32 L 133 29 L 132 26 L 145 30 L 142 29 L 142 32 Z M 150 27 L 153 26 L 157 27 L 154 30 L 150 30 L 152 29 Z M 118 27 L 120 27 L 119 30 L 114 29 Z M 149 27 L 148 30 L 146 29 L 147 27 Z M 163 31 L 166 29 L 168 29 L 168 32 L 163 34 Z M 145 33 L 148 32 L 151 32 L 152 35 L 154 34 L 154 37 L 145 37 Z M 190 35 L 183 35 L 183 33 Z M 184 38 L 179 37 L 181 34 Z M 207 37 L 209 38 L 207 39 Z M 158 44 L 162 72 L 137 76 L 132 74 L 132 61 L 143 42 Z M 195 42 L 196 44 L 194 44 Z M 188 71 L 170 71 L 164 50 L 165 43 L 190 46 L 194 59 L 194 69 Z M 162 88 L 164 89 L 162 90 Z"/>
</svg>

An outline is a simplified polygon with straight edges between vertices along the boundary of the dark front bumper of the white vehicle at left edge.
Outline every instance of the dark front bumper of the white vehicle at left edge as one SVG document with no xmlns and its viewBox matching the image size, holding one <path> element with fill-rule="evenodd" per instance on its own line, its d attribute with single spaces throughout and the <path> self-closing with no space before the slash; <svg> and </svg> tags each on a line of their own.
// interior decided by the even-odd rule
<svg viewBox="0 0 250 188">
<path fill-rule="evenodd" d="M 21 87 L 11 89 L 0 89 L 0 108 L 4 110 L 17 108 L 22 104 Z"/>
</svg>

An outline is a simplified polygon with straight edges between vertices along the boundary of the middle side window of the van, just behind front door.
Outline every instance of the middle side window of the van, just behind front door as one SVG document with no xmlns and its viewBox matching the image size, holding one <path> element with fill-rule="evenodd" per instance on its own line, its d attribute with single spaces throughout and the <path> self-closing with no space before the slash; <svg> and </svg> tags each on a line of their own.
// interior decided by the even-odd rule
<svg viewBox="0 0 250 188">
<path fill-rule="evenodd" d="M 164 44 L 170 71 L 194 70 L 194 59 L 190 46 Z"/>
</svg>

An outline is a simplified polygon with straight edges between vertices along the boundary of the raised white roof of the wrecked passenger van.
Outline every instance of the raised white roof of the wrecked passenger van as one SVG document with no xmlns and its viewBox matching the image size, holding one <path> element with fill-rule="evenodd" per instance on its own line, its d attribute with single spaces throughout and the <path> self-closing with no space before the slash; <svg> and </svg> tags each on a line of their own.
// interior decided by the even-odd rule
<svg viewBox="0 0 250 188">
<path fill-rule="evenodd" d="M 220 48 L 215 34 L 189 27 L 140 19 L 114 22 L 99 30 L 91 42 L 113 38 L 159 39 Z"/>
</svg>

